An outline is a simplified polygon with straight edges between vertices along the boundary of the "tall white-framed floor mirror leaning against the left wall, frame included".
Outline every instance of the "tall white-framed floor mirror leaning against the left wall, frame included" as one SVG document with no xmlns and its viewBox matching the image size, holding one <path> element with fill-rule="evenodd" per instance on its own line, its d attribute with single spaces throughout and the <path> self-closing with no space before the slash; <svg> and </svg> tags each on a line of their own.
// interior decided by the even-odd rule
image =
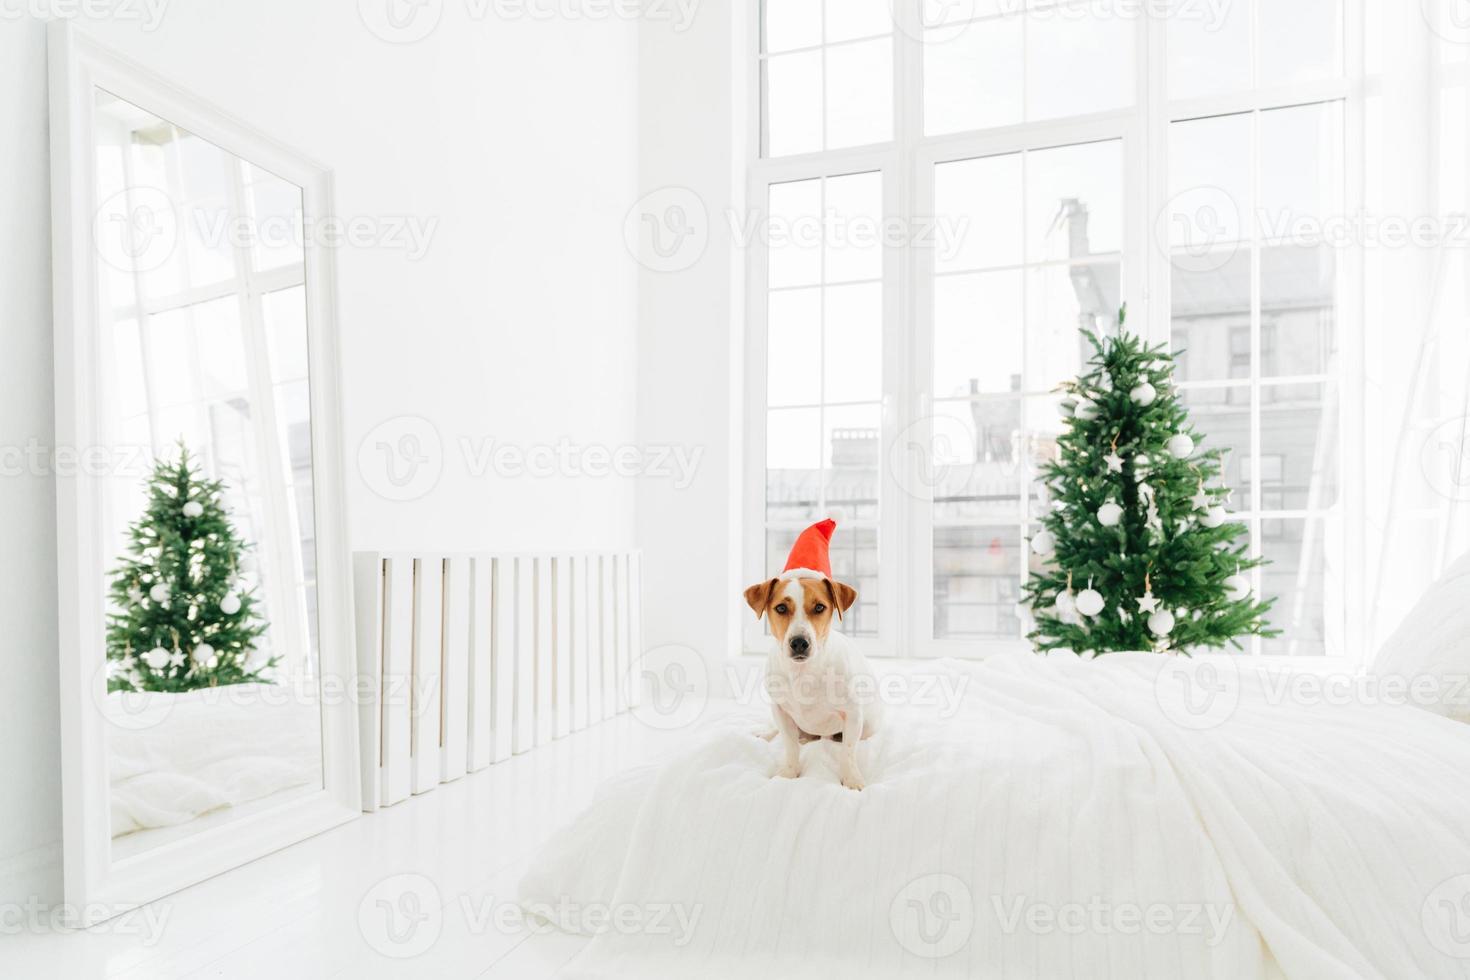
<svg viewBox="0 0 1470 980">
<path fill-rule="evenodd" d="M 49 38 L 65 886 L 87 926 L 359 813 L 331 175 Z"/>
</svg>

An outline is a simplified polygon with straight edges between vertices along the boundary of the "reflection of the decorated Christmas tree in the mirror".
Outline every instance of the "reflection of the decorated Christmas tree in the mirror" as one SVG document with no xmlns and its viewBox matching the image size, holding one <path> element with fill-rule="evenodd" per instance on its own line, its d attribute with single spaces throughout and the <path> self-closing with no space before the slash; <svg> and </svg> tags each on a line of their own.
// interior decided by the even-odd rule
<svg viewBox="0 0 1470 980">
<path fill-rule="evenodd" d="M 179 442 L 156 460 L 148 504 L 128 527 L 128 555 L 112 579 L 109 691 L 193 691 L 263 680 L 275 658 L 250 666 L 266 632 L 253 589 L 241 588 L 240 539 L 222 502 Z"/>
</svg>

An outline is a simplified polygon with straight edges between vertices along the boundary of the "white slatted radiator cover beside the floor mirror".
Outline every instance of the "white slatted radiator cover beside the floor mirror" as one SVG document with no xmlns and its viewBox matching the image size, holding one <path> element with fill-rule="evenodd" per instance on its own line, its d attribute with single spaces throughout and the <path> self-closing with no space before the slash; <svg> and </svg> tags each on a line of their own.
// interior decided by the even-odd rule
<svg viewBox="0 0 1470 980">
<path fill-rule="evenodd" d="M 637 707 L 638 552 L 353 558 L 363 810 Z"/>
</svg>

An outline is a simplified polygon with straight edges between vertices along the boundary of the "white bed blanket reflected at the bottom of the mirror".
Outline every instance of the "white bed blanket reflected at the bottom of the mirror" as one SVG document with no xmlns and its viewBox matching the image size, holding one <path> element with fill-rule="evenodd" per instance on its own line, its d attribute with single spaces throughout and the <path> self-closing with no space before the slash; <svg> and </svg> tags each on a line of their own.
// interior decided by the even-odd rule
<svg viewBox="0 0 1470 980">
<path fill-rule="evenodd" d="M 107 695 L 112 836 L 320 782 L 320 708 L 272 685 Z"/>
</svg>

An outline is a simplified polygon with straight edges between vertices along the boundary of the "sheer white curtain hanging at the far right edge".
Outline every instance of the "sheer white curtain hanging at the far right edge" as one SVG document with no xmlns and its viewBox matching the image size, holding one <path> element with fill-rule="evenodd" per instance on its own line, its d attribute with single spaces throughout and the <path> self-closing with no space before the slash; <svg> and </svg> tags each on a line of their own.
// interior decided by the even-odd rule
<svg viewBox="0 0 1470 980">
<path fill-rule="evenodd" d="M 1370 660 L 1470 550 L 1470 19 L 1457 13 L 1457 0 L 1369 4 L 1361 453 Z"/>
</svg>

